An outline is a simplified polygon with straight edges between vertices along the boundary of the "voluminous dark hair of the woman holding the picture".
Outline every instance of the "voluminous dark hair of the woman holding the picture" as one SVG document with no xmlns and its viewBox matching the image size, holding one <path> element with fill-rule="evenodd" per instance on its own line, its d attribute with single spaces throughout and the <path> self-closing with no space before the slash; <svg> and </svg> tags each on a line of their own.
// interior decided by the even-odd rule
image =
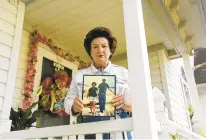
<svg viewBox="0 0 206 140">
<path fill-rule="evenodd" d="M 117 48 L 117 39 L 112 36 L 110 29 L 105 27 L 96 27 L 87 33 L 86 38 L 84 39 L 84 48 L 87 51 L 87 54 L 91 57 L 91 43 L 98 37 L 104 37 L 108 40 L 111 52 L 110 59 Z"/>
</svg>

